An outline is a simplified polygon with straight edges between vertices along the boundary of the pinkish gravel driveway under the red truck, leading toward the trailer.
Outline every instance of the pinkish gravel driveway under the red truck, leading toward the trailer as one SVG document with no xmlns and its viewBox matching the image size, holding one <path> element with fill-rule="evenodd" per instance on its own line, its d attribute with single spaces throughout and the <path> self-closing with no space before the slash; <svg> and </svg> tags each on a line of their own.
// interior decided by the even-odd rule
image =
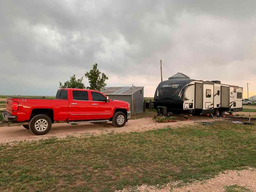
<svg viewBox="0 0 256 192">
<path fill-rule="evenodd" d="M 178 127 L 187 124 L 193 124 L 198 120 L 209 120 L 207 117 L 191 117 L 191 121 L 178 121 L 169 123 L 156 123 L 152 118 L 129 120 L 124 127 L 114 127 L 111 122 L 105 124 L 91 124 L 82 123 L 78 125 L 71 125 L 67 123 L 55 123 L 52 125 L 50 132 L 46 135 L 34 135 L 30 130 L 25 129 L 23 126 L 14 127 L 0 127 L 0 143 L 9 143 L 14 141 L 31 141 L 45 139 L 49 137 L 63 138 L 68 135 L 81 136 L 85 134 L 106 134 L 106 133 L 125 133 L 134 131 L 147 131 L 154 129 L 161 129 L 167 125 L 171 127 Z"/>
</svg>

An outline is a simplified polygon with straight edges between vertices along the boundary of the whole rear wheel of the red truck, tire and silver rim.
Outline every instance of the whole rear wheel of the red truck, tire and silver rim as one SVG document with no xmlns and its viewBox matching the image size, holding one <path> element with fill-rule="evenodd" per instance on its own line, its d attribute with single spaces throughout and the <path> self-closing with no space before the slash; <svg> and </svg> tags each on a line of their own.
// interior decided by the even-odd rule
<svg viewBox="0 0 256 192">
<path fill-rule="evenodd" d="M 29 129 L 35 135 L 45 135 L 51 129 L 51 120 L 46 115 L 36 115 L 29 122 Z"/>
</svg>

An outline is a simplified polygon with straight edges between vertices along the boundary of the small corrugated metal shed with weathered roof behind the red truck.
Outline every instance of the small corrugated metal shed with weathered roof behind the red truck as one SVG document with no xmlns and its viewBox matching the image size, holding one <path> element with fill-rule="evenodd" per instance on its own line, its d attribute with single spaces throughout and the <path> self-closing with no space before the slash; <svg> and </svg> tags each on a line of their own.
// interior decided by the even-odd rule
<svg viewBox="0 0 256 192">
<path fill-rule="evenodd" d="M 144 87 L 133 87 L 133 90 L 132 87 L 104 87 L 101 92 L 109 96 L 109 99 L 130 103 L 130 111 L 132 111 L 133 97 L 135 99 L 135 114 L 143 113 Z"/>
</svg>

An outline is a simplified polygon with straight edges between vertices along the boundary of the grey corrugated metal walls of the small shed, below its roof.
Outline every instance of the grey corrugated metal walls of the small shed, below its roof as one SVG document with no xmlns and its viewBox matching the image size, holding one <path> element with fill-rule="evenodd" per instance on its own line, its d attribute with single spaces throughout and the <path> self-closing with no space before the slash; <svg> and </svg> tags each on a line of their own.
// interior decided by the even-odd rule
<svg viewBox="0 0 256 192">
<path fill-rule="evenodd" d="M 107 95 L 107 94 L 106 94 Z M 107 95 L 109 99 L 121 100 L 130 103 L 130 111 L 132 111 L 132 95 Z M 144 88 L 133 93 L 135 99 L 135 114 L 143 113 Z"/>
</svg>

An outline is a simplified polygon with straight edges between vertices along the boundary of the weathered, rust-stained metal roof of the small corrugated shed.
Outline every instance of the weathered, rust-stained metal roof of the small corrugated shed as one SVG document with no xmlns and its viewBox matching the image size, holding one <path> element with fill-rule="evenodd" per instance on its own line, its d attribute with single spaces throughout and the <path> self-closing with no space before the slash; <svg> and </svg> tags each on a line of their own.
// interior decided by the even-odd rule
<svg viewBox="0 0 256 192">
<path fill-rule="evenodd" d="M 144 87 L 133 87 L 133 93 Z M 132 87 L 104 87 L 101 90 L 105 95 L 131 95 Z"/>
</svg>

